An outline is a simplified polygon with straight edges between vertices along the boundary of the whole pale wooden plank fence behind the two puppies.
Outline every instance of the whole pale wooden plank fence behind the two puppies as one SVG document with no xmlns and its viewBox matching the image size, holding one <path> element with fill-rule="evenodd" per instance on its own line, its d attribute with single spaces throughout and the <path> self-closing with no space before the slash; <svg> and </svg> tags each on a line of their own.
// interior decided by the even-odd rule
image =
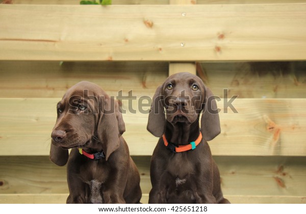
<svg viewBox="0 0 306 214">
<path fill-rule="evenodd" d="M 56 103 L 83 80 L 137 96 L 122 100 L 136 110 L 123 115 L 123 137 L 147 203 L 158 139 L 139 98 L 180 71 L 197 73 L 221 98 L 221 134 L 209 144 L 224 195 L 306 203 L 306 1 L 78 4 L 0 5 L 0 203 L 65 203 L 66 169 L 48 159 L 50 133 Z"/>
</svg>

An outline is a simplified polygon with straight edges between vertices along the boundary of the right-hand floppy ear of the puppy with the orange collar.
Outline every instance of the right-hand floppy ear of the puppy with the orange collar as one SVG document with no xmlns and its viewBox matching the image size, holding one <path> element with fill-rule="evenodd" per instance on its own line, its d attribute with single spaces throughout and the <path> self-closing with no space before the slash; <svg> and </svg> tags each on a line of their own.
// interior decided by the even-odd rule
<svg viewBox="0 0 306 214">
<path fill-rule="evenodd" d="M 201 132 L 206 141 L 213 140 L 221 132 L 218 107 L 212 91 L 205 87 Z"/>
</svg>

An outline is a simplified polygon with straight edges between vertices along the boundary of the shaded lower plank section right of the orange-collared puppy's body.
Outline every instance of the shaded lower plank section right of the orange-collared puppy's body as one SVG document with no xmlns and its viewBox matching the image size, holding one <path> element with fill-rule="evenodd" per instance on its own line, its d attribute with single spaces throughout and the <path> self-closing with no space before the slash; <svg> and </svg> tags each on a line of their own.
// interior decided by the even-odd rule
<svg viewBox="0 0 306 214">
<path fill-rule="evenodd" d="M 214 156 L 214 159 L 224 195 L 305 196 L 306 157 Z"/>
</svg>

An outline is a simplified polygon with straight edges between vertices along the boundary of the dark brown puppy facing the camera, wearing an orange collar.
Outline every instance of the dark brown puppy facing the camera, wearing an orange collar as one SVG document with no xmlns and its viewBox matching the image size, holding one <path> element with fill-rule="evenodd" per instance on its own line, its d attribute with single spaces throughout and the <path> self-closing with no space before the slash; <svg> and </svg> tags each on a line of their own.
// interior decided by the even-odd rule
<svg viewBox="0 0 306 214">
<path fill-rule="evenodd" d="M 160 137 L 151 158 L 149 203 L 230 203 L 223 198 L 219 170 L 207 143 L 220 133 L 217 104 L 199 77 L 169 76 L 156 90 L 147 129 Z M 191 143 L 198 138 L 198 145 Z M 190 143 L 193 149 L 175 152 Z"/>
</svg>

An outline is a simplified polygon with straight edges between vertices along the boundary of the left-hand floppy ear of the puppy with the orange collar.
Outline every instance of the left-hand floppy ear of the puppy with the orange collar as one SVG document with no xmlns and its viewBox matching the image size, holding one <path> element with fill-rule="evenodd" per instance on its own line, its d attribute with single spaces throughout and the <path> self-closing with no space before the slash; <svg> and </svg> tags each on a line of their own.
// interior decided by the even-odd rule
<svg viewBox="0 0 306 214">
<path fill-rule="evenodd" d="M 166 118 L 162 103 L 162 86 L 156 89 L 149 112 L 147 130 L 155 137 L 162 137 L 165 132 Z"/>
</svg>

